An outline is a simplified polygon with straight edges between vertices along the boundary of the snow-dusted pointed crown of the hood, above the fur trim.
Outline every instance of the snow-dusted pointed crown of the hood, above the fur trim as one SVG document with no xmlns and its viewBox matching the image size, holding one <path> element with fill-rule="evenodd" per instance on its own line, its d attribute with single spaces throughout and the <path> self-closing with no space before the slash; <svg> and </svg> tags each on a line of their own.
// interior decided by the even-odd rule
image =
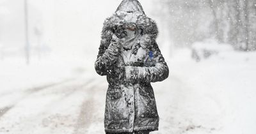
<svg viewBox="0 0 256 134">
<path fill-rule="evenodd" d="M 126 13 L 141 13 L 145 15 L 145 12 L 137 0 L 123 0 L 122 3 L 116 9 L 116 12 L 122 11 Z"/>
</svg>

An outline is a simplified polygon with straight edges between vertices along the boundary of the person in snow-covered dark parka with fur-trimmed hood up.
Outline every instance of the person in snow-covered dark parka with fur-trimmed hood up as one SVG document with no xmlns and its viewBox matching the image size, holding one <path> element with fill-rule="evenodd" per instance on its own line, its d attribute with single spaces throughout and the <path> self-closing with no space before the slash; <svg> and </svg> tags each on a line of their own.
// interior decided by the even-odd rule
<svg viewBox="0 0 256 134">
<path fill-rule="evenodd" d="M 159 115 L 150 82 L 166 79 L 169 70 L 157 46 L 156 22 L 137 0 L 124 0 L 106 19 L 95 70 L 106 75 L 106 133 L 158 130 Z"/>
</svg>

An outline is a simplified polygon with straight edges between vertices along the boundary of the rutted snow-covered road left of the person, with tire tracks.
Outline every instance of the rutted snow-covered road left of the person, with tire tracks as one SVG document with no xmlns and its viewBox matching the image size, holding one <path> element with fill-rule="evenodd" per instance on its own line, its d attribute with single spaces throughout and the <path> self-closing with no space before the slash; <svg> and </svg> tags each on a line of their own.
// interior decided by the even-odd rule
<svg viewBox="0 0 256 134">
<path fill-rule="evenodd" d="M 1 99 L 16 97 L 9 100 L 11 105 L 0 108 L 0 133 L 77 134 L 89 133 L 91 125 L 103 128 L 106 85 L 102 83 L 78 78 L 4 94 Z"/>
</svg>

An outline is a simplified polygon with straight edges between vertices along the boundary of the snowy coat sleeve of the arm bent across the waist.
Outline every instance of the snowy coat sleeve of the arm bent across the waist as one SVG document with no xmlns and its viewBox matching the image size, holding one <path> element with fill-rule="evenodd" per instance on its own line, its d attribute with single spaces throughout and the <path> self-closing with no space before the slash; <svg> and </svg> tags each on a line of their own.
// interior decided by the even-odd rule
<svg viewBox="0 0 256 134">
<path fill-rule="evenodd" d="M 127 80 L 159 82 L 168 78 L 169 69 L 156 42 L 154 43 L 152 52 L 152 62 L 154 63 L 153 66 L 125 66 L 125 78 Z"/>
</svg>

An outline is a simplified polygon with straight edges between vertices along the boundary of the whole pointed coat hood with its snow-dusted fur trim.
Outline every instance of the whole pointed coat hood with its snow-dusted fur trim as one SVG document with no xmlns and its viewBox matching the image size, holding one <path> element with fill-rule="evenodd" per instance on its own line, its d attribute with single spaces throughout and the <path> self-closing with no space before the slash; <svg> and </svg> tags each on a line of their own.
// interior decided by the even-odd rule
<svg viewBox="0 0 256 134">
<path fill-rule="evenodd" d="M 104 22 L 104 31 L 115 31 L 118 26 L 135 24 L 141 29 L 141 34 L 148 34 L 152 40 L 156 40 L 158 29 L 156 22 L 145 15 L 143 8 L 137 0 L 124 0 L 118 6 L 115 13 Z"/>
</svg>

